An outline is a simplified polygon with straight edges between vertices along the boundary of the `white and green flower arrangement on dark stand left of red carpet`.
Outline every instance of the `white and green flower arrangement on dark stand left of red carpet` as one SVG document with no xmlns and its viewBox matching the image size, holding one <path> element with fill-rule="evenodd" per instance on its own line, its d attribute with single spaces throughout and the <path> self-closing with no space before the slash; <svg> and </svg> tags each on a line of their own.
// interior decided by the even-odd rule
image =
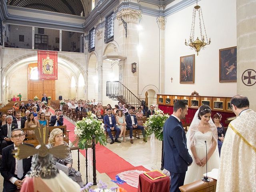
<svg viewBox="0 0 256 192">
<path fill-rule="evenodd" d="M 76 140 L 74 145 L 78 145 L 80 149 L 87 149 L 92 145 L 92 135 L 95 135 L 96 144 L 99 142 L 101 145 L 107 144 L 107 139 L 104 134 L 104 124 L 98 121 L 95 114 L 91 111 L 87 113 L 88 116 L 76 122 L 74 133 Z"/>
</svg>

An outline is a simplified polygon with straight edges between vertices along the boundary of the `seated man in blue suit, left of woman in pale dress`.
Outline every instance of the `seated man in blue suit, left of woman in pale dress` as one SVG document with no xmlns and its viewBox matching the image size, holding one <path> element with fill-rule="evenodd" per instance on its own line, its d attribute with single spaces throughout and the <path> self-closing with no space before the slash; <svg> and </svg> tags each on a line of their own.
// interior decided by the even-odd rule
<svg viewBox="0 0 256 192">
<path fill-rule="evenodd" d="M 120 134 L 120 129 L 118 127 L 116 127 L 116 118 L 114 115 L 111 114 L 111 112 L 112 112 L 112 109 L 108 108 L 108 110 L 107 110 L 108 115 L 104 116 L 104 124 L 105 124 L 105 128 L 106 128 L 106 132 L 108 132 L 108 135 L 109 135 L 110 139 L 112 140 L 110 142 L 110 144 L 113 144 L 114 142 L 120 143 L 120 141 L 118 140 L 118 136 Z M 113 139 L 111 131 L 116 132 L 115 140 Z"/>
</svg>

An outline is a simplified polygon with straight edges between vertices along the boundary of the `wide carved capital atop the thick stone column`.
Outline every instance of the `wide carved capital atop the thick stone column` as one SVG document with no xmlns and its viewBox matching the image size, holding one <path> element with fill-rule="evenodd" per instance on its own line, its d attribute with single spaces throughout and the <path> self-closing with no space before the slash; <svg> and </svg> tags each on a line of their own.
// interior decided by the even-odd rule
<svg viewBox="0 0 256 192">
<path fill-rule="evenodd" d="M 119 21 L 119 24 L 122 24 L 121 18 L 125 22 L 134 22 L 138 23 L 141 18 L 141 11 L 134 10 L 134 9 L 122 9 L 116 14 L 116 18 Z"/>
</svg>

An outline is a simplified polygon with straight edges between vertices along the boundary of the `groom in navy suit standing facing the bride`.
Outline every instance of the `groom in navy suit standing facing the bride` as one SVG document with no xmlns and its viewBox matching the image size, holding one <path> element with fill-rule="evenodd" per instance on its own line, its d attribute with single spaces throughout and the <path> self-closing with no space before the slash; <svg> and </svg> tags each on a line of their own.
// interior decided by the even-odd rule
<svg viewBox="0 0 256 192">
<path fill-rule="evenodd" d="M 188 114 L 188 103 L 178 100 L 173 111 L 164 124 L 164 169 L 170 172 L 170 192 L 179 192 L 188 166 L 193 161 L 188 153 L 186 133 L 180 121 Z"/>
</svg>

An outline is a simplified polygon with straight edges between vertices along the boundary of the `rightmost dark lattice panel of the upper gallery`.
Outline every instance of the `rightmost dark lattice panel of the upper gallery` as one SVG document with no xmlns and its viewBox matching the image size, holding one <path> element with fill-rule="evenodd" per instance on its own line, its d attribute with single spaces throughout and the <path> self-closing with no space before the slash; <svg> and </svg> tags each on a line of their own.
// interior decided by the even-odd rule
<svg viewBox="0 0 256 192">
<path fill-rule="evenodd" d="M 62 30 L 61 50 L 84 53 L 84 33 Z"/>
</svg>

